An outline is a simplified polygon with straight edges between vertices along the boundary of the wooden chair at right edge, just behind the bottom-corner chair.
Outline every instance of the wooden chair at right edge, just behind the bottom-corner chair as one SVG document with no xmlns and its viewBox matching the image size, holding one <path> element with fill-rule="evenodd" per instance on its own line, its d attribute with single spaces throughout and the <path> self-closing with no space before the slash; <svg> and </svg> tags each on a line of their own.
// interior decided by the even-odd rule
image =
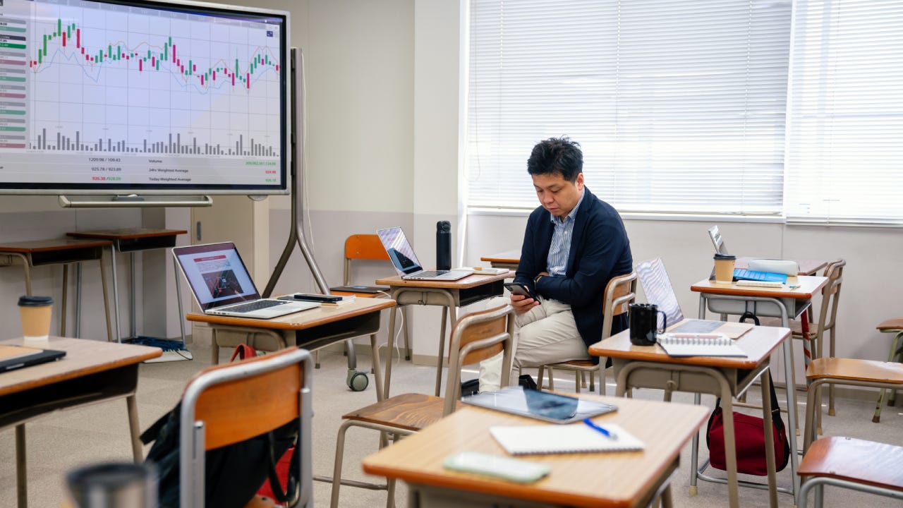
<svg viewBox="0 0 903 508">
<path fill-rule="evenodd" d="M 903 388 L 903 363 L 875 362 L 858 358 L 816 358 L 805 370 L 811 381 L 805 401 L 805 440 L 803 451 L 822 432 L 822 385 L 870 386 L 884 389 Z M 817 416 L 816 416 L 817 414 Z"/>
</svg>

